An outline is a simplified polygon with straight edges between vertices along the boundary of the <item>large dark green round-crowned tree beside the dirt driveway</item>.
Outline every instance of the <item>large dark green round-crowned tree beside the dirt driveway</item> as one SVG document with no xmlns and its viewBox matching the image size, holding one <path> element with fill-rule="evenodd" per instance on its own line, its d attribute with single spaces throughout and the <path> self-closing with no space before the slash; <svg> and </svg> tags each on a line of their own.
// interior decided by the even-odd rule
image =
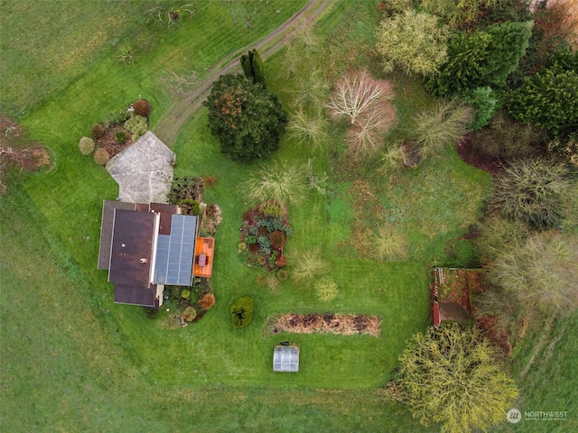
<svg viewBox="0 0 578 433">
<path fill-rule="evenodd" d="M 204 102 L 210 132 L 222 152 L 235 161 L 250 162 L 279 148 L 287 115 L 279 98 L 242 75 L 222 75 Z"/>
</svg>

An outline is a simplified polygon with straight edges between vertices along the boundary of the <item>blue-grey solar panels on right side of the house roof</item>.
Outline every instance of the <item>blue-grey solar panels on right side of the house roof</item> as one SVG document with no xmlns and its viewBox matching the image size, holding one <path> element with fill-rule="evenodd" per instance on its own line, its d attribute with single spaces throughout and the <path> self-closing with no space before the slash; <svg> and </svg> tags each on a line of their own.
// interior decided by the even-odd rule
<svg viewBox="0 0 578 433">
<path fill-rule="evenodd" d="M 197 217 L 172 215 L 171 235 L 159 235 L 154 283 L 190 286 Z"/>
</svg>

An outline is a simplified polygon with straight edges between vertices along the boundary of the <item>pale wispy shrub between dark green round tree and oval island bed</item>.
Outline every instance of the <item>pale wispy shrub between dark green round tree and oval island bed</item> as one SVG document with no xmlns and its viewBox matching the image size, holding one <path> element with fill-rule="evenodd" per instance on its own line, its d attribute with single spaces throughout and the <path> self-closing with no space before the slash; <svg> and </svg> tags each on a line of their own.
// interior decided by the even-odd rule
<svg viewBox="0 0 578 433">
<path fill-rule="evenodd" d="M 286 162 L 262 166 L 249 179 L 241 183 L 247 200 L 253 204 L 265 201 L 283 205 L 298 205 L 305 195 L 303 170 Z"/>
</svg>

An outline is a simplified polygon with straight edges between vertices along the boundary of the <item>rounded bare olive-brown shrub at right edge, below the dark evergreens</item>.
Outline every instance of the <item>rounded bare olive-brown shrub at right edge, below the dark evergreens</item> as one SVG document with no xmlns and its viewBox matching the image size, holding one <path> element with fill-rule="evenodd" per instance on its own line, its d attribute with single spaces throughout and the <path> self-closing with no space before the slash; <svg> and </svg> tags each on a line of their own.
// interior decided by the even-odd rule
<svg viewBox="0 0 578 433">
<path fill-rule="evenodd" d="M 560 226 L 574 192 L 567 175 L 562 163 L 516 161 L 496 180 L 490 203 L 502 216 L 537 230 Z"/>
</svg>

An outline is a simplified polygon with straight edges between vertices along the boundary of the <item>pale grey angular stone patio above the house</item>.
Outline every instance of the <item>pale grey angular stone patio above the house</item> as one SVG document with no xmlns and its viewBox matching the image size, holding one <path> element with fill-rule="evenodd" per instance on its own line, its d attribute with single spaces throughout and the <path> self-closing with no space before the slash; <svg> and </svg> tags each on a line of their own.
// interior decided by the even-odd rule
<svg viewBox="0 0 578 433">
<path fill-rule="evenodd" d="M 131 203 L 166 203 L 175 155 L 148 131 L 107 162 L 117 181 L 118 198 Z"/>
</svg>

